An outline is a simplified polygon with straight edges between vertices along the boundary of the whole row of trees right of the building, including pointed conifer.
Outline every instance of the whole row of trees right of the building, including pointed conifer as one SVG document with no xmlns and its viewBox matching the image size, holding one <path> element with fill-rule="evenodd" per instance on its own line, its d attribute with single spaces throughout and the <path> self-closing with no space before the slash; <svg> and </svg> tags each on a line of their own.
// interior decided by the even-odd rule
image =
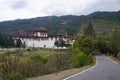
<svg viewBox="0 0 120 80">
<path fill-rule="evenodd" d="M 79 47 L 85 53 L 90 53 L 94 50 L 99 50 L 101 53 L 113 55 L 120 59 L 120 19 L 117 19 L 118 26 L 115 25 L 114 30 L 109 36 L 98 36 L 89 22 L 84 29 L 83 36 L 77 37 L 74 46 Z"/>
</svg>

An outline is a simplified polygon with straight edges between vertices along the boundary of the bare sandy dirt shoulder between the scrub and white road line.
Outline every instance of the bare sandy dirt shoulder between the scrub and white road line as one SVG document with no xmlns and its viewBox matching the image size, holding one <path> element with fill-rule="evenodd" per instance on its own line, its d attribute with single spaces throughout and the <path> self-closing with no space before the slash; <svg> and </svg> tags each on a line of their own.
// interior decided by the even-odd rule
<svg viewBox="0 0 120 80">
<path fill-rule="evenodd" d="M 80 68 L 73 68 L 73 69 L 68 69 L 68 70 L 64 70 L 64 71 L 60 71 L 58 73 L 52 73 L 52 74 L 48 74 L 48 75 L 43 75 L 43 76 L 38 76 L 38 77 L 34 77 L 34 78 L 28 78 L 26 80 L 62 80 L 68 76 L 74 75 L 76 73 L 79 73 L 85 69 L 88 69 L 92 66 L 94 66 L 96 63 L 96 59 L 94 57 L 94 62 L 90 65 L 86 65 Z"/>
</svg>

